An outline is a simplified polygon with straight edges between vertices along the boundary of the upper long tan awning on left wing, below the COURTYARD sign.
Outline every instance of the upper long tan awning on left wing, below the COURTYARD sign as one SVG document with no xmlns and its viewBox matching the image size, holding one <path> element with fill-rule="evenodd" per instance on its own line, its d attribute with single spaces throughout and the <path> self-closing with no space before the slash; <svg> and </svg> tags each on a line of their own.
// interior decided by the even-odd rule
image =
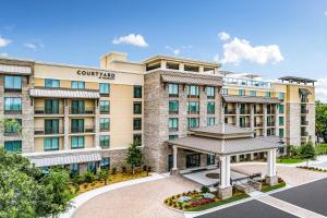
<svg viewBox="0 0 327 218">
<path fill-rule="evenodd" d="M 100 98 L 97 90 L 81 90 L 81 89 L 60 89 L 60 88 L 31 88 L 32 97 L 52 97 L 52 98 Z"/>
</svg>

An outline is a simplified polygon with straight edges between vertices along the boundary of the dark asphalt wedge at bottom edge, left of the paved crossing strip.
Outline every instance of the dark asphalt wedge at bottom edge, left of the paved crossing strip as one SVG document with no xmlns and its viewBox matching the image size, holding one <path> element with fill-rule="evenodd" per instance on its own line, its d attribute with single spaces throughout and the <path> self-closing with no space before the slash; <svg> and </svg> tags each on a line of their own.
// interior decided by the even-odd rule
<svg viewBox="0 0 327 218">
<path fill-rule="evenodd" d="M 258 201 L 250 201 L 197 218 L 296 218 Z"/>
</svg>

